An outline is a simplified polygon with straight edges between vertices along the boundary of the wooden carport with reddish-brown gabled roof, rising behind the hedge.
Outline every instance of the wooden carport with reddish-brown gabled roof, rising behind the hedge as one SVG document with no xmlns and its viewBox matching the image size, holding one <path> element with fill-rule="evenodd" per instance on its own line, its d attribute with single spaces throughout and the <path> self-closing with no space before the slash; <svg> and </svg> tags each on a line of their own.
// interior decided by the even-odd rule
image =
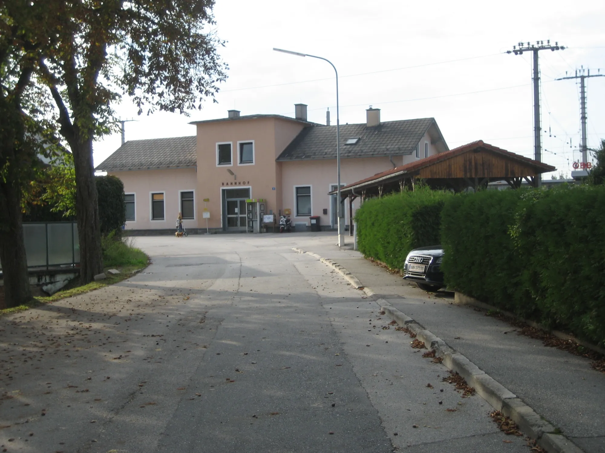
<svg viewBox="0 0 605 453">
<path fill-rule="evenodd" d="M 552 165 L 534 161 L 511 153 L 482 140 L 445 151 L 416 162 L 395 167 L 370 178 L 362 179 L 341 188 L 341 197 L 349 200 L 349 213 L 352 216 L 352 203 L 358 197 L 365 199 L 405 187 L 414 190 L 419 179 L 431 188 L 450 189 L 456 192 L 475 191 L 486 188 L 489 182 L 506 181 L 512 188 L 521 186 L 523 179 L 536 187 L 541 173 L 556 170 Z M 330 192 L 335 194 L 336 191 Z M 350 220 L 353 225 L 353 220 Z"/>
</svg>

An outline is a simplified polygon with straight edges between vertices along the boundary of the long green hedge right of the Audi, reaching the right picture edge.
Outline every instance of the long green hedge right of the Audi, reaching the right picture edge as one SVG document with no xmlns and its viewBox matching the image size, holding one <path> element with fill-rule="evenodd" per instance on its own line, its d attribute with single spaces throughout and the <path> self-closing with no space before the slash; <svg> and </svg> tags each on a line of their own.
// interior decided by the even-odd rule
<svg viewBox="0 0 605 453">
<path fill-rule="evenodd" d="M 605 187 L 455 196 L 442 244 L 451 287 L 605 345 Z"/>
</svg>

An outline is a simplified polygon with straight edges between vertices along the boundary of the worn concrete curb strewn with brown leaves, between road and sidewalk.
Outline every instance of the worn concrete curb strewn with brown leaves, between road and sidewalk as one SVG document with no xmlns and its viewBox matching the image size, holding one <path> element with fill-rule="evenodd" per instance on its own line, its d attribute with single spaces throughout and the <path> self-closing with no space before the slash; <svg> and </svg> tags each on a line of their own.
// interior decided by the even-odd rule
<svg viewBox="0 0 605 453">
<path fill-rule="evenodd" d="M 327 264 L 349 281 L 353 288 L 362 289 L 368 296 L 371 297 L 375 294 L 370 288 L 365 288 L 355 275 L 333 260 L 322 258 L 316 253 L 306 252 L 296 247 L 293 247 L 292 250 L 298 253 L 306 253 Z M 551 423 L 543 420 L 523 400 L 517 398 L 517 395 L 495 381 L 489 374 L 486 374 L 485 371 L 450 347 L 445 341 L 433 335 L 410 316 L 391 306 L 388 301 L 378 299 L 377 302 L 381 304 L 381 309 L 385 312 L 385 315 L 396 321 L 400 326 L 408 327 L 416 333 L 416 338 L 424 342 L 427 349 L 434 350 L 435 355 L 443 359 L 443 365 L 452 371 L 457 371 L 460 376 L 464 377 L 468 385 L 475 388 L 480 397 L 491 404 L 495 410 L 501 411 L 505 416 L 510 417 L 517 423 L 521 431 L 537 440 L 538 445 L 546 451 L 549 453 L 584 453 L 582 449 L 578 448 L 564 435 L 555 434 L 556 428 Z"/>
</svg>

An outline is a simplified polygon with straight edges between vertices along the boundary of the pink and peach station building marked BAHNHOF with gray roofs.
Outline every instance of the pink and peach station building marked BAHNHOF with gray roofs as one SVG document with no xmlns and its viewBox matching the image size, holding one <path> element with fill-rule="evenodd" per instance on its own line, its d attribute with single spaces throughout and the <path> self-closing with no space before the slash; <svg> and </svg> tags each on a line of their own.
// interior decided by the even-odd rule
<svg viewBox="0 0 605 453">
<path fill-rule="evenodd" d="M 247 231 L 246 199 L 263 199 L 277 221 L 289 213 L 297 231 L 310 216 L 334 228 L 336 126 L 310 123 L 306 105 L 295 108 L 295 118 L 229 111 L 192 122 L 193 137 L 123 144 L 97 170 L 124 183 L 126 230 L 174 231 L 181 213 L 189 232 Z M 340 128 L 342 185 L 448 150 L 433 118 L 381 123 L 370 108 L 366 123 Z"/>
</svg>

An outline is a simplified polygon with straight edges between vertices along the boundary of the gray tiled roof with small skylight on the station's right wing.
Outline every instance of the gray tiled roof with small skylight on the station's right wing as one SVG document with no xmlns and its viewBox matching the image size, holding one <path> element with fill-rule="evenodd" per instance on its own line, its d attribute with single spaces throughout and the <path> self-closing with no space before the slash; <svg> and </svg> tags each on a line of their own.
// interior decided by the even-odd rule
<svg viewBox="0 0 605 453">
<path fill-rule="evenodd" d="M 431 124 L 436 126 L 434 118 L 385 121 L 374 127 L 367 127 L 365 123 L 341 124 L 341 158 L 410 154 L 414 152 L 416 144 L 419 143 Z M 345 144 L 349 138 L 353 137 L 359 137 L 356 144 Z M 303 129 L 277 160 L 335 158 L 336 126 L 315 126 Z"/>
</svg>

